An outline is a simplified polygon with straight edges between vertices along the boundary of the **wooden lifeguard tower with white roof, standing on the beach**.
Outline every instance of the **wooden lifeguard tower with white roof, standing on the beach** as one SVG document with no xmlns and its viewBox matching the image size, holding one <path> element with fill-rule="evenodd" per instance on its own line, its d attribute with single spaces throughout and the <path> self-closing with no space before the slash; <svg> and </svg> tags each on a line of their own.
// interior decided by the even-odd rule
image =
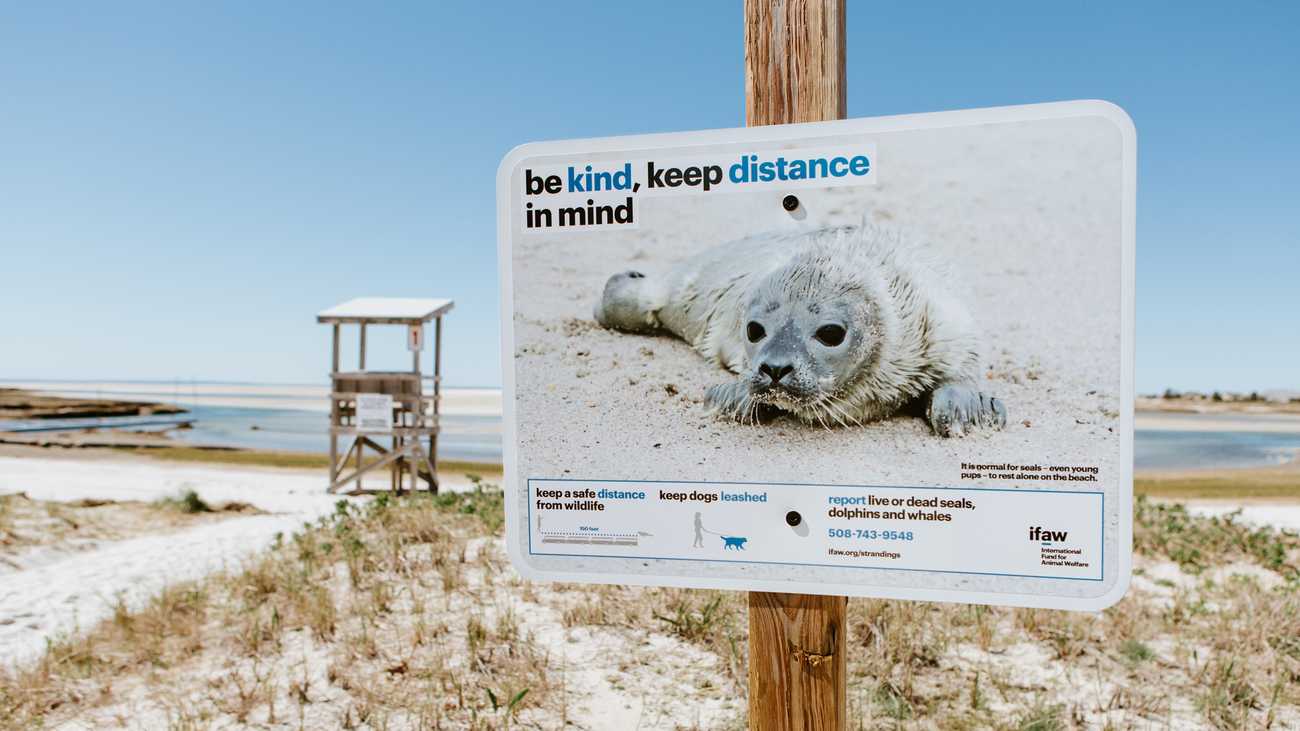
<svg viewBox="0 0 1300 731">
<path fill-rule="evenodd" d="M 354 493 L 364 492 L 361 476 L 390 467 L 394 493 L 402 493 L 410 476 L 410 489 L 424 480 L 430 493 L 438 492 L 438 388 L 442 366 L 442 316 L 451 311 L 450 299 L 411 299 L 359 297 L 316 315 L 317 323 L 334 325 L 334 368 L 330 373 L 329 492 L 355 481 Z M 420 372 L 424 326 L 434 321 L 433 376 Z M 338 338 L 342 325 L 360 325 L 360 363 L 356 371 L 339 371 Z M 413 354 L 410 372 L 365 369 L 365 328 L 406 325 L 407 349 Z M 432 381 L 425 394 L 424 382 Z M 339 459 L 339 437 L 351 438 Z M 422 440 L 428 438 L 428 449 Z M 377 440 L 391 440 L 391 447 Z M 364 451 L 374 451 L 369 463 Z M 354 462 L 355 460 L 355 462 Z M 351 471 L 350 471 L 350 463 Z"/>
</svg>

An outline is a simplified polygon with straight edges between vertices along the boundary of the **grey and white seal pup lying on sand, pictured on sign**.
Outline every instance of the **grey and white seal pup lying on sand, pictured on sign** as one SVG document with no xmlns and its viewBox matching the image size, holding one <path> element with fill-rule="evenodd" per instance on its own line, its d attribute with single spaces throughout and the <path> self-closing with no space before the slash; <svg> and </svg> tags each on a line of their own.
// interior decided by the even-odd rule
<svg viewBox="0 0 1300 731">
<path fill-rule="evenodd" d="M 919 402 L 936 434 L 1002 428 L 980 393 L 979 338 L 945 269 L 875 225 L 771 232 L 710 248 L 662 277 L 610 277 L 601 325 L 668 330 L 741 377 L 706 406 L 755 421 L 771 408 L 823 425 Z"/>
</svg>

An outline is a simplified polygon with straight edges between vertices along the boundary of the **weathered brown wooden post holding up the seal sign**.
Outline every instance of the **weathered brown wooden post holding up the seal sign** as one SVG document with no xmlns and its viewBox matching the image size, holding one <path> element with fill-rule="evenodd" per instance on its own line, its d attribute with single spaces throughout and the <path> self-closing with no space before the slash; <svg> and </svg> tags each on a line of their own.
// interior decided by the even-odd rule
<svg viewBox="0 0 1300 731">
<path fill-rule="evenodd" d="M 842 120 L 846 0 L 745 0 L 745 124 Z M 844 731 L 848 598 L 750 592 L 751 731 Z"/>
</svg>

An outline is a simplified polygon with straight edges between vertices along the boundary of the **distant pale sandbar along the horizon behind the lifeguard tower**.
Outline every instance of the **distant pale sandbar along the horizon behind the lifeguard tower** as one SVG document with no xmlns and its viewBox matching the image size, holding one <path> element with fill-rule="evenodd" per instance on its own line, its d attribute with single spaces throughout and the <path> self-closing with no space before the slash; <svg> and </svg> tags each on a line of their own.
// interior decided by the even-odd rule
<svg viewBox="0 0 1300 731">
<path fill-rule="evenodd" d="M 0 381 L 0 388 L 25 389 L 65 398 L 108 398 L 192 406 L 329 411 L 329 386 L 260 384 L 181 384 L 114 381 Z M 500 389 L 442 389 L 447 416 L 500 416 Z"/>
</svg>

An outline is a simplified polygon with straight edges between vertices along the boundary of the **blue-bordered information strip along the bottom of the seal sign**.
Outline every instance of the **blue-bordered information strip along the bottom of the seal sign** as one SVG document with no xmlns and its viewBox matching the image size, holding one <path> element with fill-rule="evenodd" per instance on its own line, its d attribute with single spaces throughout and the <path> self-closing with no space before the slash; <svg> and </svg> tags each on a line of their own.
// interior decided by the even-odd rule
<svg viewBox="0 0 1300 731">
<path fill-rule="evenodd" d="M 528 481 L 529 553 L 1100 581 L 1095 492 Z"/>
</svg>

